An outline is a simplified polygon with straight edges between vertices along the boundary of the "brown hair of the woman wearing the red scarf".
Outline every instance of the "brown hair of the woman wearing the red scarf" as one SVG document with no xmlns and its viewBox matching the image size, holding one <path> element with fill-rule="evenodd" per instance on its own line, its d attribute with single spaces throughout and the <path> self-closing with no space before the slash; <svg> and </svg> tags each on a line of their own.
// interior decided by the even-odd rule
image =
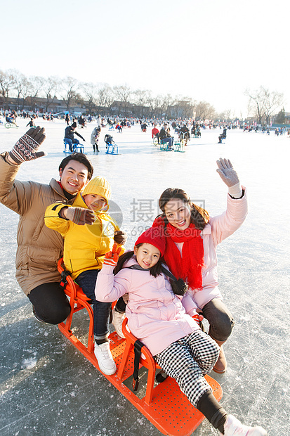
<svg viewBox="0 0 290 436">
<path fill-rule="evenodd" d="M 195 205 L 190 201 L 190 197 L 183 191 L 183 189 L 178 188 L 168 188 L 166 189 L 159 198 L 159 207 L 162 210 L 162 214 L 158 217 L 164 219 L 164 224 L 168 224 L 168 219 L 165 214 L 165 206 L 173 198 L 179 198 L 184 203 L 190 206 L 191 222 L 195 224 L 196 229 L 203 230 L 206 224 L 209 222 L 209 212 Z"/>
</svg>

